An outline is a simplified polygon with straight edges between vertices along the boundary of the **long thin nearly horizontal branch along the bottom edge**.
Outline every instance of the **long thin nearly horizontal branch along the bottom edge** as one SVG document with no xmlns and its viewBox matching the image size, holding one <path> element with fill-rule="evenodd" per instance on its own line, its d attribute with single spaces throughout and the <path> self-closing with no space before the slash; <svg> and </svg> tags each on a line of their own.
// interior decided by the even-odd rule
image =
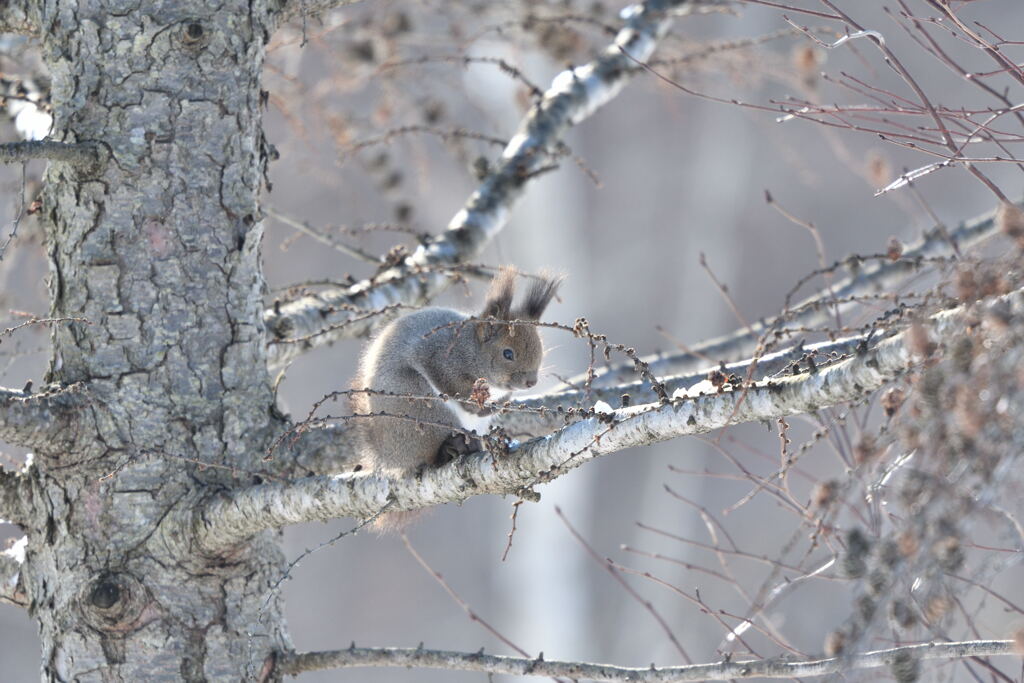
<svg viewBox="0 0 1024 683">
<path fill-rule="evenodd" d="M 307 671 L 350 667 L 418 667 L 449 671 L 477 671 L 509 676 L 547 676 L 570 680 L 632 681 L 725 681 L 740 678 L 802 678 L 825 676 L 863 669 L 877 669 L 923 659 L 961 659 L 966 657 L 1018 654 L 1012 640 L 972 640 L 958 643 L 904 645 L 828 659 L 794 661 L 784 657 L 717 661 L 685 667 L 645 667 L 634 669 L 586 661 L 548 661 L 543 655 L 534 659 L 482 652 L 452 652 L 423 648 L 350 647 L 328 652 L 290 652 L 278 663 L 282 674 L 293 676 Z M 1019 654 L 1018 654 L 1019 656 Z"/>
</svg>

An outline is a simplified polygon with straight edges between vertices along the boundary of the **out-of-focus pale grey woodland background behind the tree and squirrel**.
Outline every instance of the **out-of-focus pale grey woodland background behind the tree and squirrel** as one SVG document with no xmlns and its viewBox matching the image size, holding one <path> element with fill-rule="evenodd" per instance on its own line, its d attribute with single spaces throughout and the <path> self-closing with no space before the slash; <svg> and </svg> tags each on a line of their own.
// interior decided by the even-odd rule
<svg viewBox="0 0 1024 683">
<path fill-rule="evenodd" d="M 855 12 L 862 26 L 884 35 L 936 101 L 949 108 L 998 104 L 926 52 L 880 5 L 840 4 Z M 929 15 L 927 3 L 907 4 Z M 498 157 L 502 146 L 496 142 L 513 134 L 530 104 L 530 84 L 543 90 L 567 66 L 596 55 L 610 42 L 609 30 L 621 26 L 624 6 L 571 0 L 375 0 L 328 13 L 323 22 L 309 19 L 279 31 L 268 46 L 264 87 L 269 93 L 266 134 L 280 160 L 270 166 L 272 188 L 264 195 L 265 207 L 369 254 L 385 254 L 395 245 L 415 249 L 418 234 L 443 229 L 473 191 L 475 173 Z M 821 72 L 830 79 L 849 73 L 912 98 L 869 40 L 827 50 L 786 24 L 783 13 L 750 4 L 682 18 L 656 53 L 655 59 L 665 63 L 655 69 L 701 93 L 775 110 L 788 98 L 872 101 Z M 841 24 L 788 14 L 824 42 L 842 35 Z M 1024 6 L 1014 0 L 972 3 L 962 14 L 991 26 L 1024 27 Z M 980 51 L 941 27 L 935 32 L 968 71 L 994 69 Z M 26 56 L 30 48 L 8 45 L 10 63 L 4 70 L 32 63 Z M 1008 52 L 1014 49 L 1008 47 Z M 998 89 L 997 79 L 990 82 Z M 594 332 L 614 343 L 644 353 L 672 351 L 743 324 L 700 266 L 701 254 L 745 321 L 776 313 L 797 281 L 818 267 L 810 231 L 769 206 L 766 190 L 779 206 L 817 227 L 828 263 L 852 253 L 884 252 L 893 237 L 912 242 L 936 218 L 954 227 L 995 206 L 993 194 L 962 168 L 942 169 L 911 188 L 876 197 L 904 170 L 937 160 L 889 144 L 874 133 L 849 130 L 841 117 L 828 118 L 836 125 L 827 127 L 799 119 L 779 123 L 778 116 L 709 101 L 639 74 L 609 105 L 569 131 L 565 141 L 573 158 L 530 182 L 480 263 L 564 273 L 560 300 L 549 308 L 547 319 L 571 325 L 584 316 Z M 878 119 L 887 116 L 880 113 Z M 925 125 L 922 119 L 905 124 L 910 130 Z M 7 127 L 5 139 L 16 139 L 13 126 Z M 28 203 L 40 170 L 34 165 L 27 169 Z M 993 164 L 985 173 L 1009 196 L 1019 197 L 1019 169 Z M 22 168 L 0 169 L 0 183 L 6 239 L 24 210 L 18 199 Z M 263 254 L 268 302 L 297 284 L 315 288 L 347 275 L 360 280 L 378 267 L 297 231 L 288 220 L 270 217 Z M 46 313 L 46 264 L 34 217 L 20 220 L 0 270 L 0 312 L 8 319 L 0 327 L 24 322 L 18 311 Z M 804 291 L 820 285 L 813 282 Z M 475 309 L 483 288 L 477 281 L 456 285 L 437 303 Z M 585 341 L 550 330 L 544 337 L 550 351 L 542 389 L 586 369 Z M 30 379 L 40 382 L 46 347 L 47 333 L 38 327 L 4 338 L 0 383 L 20 387 Z M 297 360 L 281 385 L 283 409 L 301 419 L 325 393 L 346 388 L 359 348 L 360 342 L 346 341 Z M 846 424 L 844 410 L 818 418 Z M 861 417 L 871 419 L 858 414 L 857 421 Z M 813 418 L 794 419 L 791 425 L 794 444 L 810 439 L 818 428 Z M 791 483 L 805 500 L 816 481 L 844 471 L 840 454 L 851 447 L 858 432 L 854 424 L 845 429 L 818 439 L 801 461 Z M 12 447 L 4 454 L 5 466 L 24 456 Z M 519 506 L 504 561 L 511 499 L 476 498 L 439 508 L 412 528 L 409 539 L 473 613 L 530 655 L 543 650 L 548 659 L 640 667 L 682 664 L 686 657 L 714 661 L 721 658 L 718 648 L 732 646 L 725 641 L 727 629 L 675 589 L 691 597 L 699 591 L 709 608 L 741 617 L 763 585 L 780 581 L 777 567 L 757 558 L 810 568 L 815 558 L 821 564 L 830 557 L 809 547 L 810 529 L 771 496 L 745 501 L 752 483 L 730 459 L 758 474 L 777 469 L 775 426 L 745 425 L 710 439 L 678 439 L 574 470 L 540 487 L 540 503 Z M 656 578 L 618 574 L 651 608 L 573 538 L 556 507 L 598 558 L 611 557 Z M 722 524 L 715 526 L 717 542 L 734 542 L 748 557 L 728 557 L 726 569 L 715 553 L 699 547 L 716 543 L 701 509 Z M 289 528 L 286 554 L 295 558 L 352 524 L 341 520 Z M 19 536 L 9 525 L 0 531 L 5 538 Z M 992 588 L 1009 596 L 1016 591 L 1020 598 L 1015 588 L 1020 585 L 1024 571 L 1016 566 L 996 577 Z M 484 647 L 515 654 L 471 620 L 397 537 L 359 533 L 324 547 L 293 570 L 284 591 L 292 637 L 302 650 L 353 641 L 403 647 L 423 642 L 429 648 Z M 802 583 L 787 589 L 772 608 L 774 626 L 795 648 L 820 653 L 823 634 L 849 616 L 850 595 L 842 582 Z M 730 626 L 738 622 L 724 621 Z M 1001 609 L 981 605 L 976 635 L 1006 637 L 1011 621 Z M 0 678 L 34 680 L 38 647 L 29 616 L 0 606 L 0 634 L 5 672 Z M 756 635 L 751 643 L 758 643 L 763 655 L 780 652 Z M 965 680 L 967 672 L 952 666 L 942 676 Z M 306 674 L 302 680 L 482 678 L 342 670 Z"/>
</svg>

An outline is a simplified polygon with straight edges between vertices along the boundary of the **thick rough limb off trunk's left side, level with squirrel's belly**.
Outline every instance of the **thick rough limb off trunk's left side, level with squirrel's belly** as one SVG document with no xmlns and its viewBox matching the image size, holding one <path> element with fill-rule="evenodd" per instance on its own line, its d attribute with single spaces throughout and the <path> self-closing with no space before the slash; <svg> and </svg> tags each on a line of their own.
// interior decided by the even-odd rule
<svg viewBox="0 0 1024 683">
<path fill-rule="evenodd" d="M 78 385 L 39 393 L 0 387 L 0 438 L 45 453 L 76 436 L 74 419 L 83 404 Z"/>
</svg>

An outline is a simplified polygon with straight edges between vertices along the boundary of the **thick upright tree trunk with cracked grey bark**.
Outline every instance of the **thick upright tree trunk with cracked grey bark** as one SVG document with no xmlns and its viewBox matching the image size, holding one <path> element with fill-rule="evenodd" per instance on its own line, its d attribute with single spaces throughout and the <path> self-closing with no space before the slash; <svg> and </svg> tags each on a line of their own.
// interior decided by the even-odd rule
<svg viewBox="0 0 1024 683">
<path fill-rule="evenodd" d="M 52 0 L 37 19 L 53 163 L 49 382 L 83 400 L 39 443 L 23 582 L 48 680 L 265 679 L 288 644 L 261 535 L 203 557 L 166 532 L 253 474 L 281 418 L 265 371 L 258 190 L 264 3 Z"/>
</svg>

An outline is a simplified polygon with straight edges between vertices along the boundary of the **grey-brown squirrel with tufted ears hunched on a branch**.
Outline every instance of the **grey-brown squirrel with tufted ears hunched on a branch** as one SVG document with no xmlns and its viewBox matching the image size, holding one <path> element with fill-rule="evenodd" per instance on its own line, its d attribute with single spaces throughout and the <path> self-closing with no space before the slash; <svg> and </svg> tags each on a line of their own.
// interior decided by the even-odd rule
<svg viewBox="0 0 1024 683">
<path fill-rule="evenodd" d="M 486 431 L 490 412 L 481 400 L 470 400 L 480 395 L 479 380 L 503 392 L 492 400 L 537 384 L 541 337 L 536 326 L 512 323 L 539 319 L 561 281 L 534 281 L 513 308 L 515 278 L 513 268 L 499 270 L 478 316 L 421 308 L 388 324 L 367 345 L 350 399 L 360 418 L 354 428 L 357 469 L 406 476 L 475 453 L 480 441 L 472 433 Z M 387 513 L 375 526 L 401 528 L 414 516 Z"/>
</svg>

